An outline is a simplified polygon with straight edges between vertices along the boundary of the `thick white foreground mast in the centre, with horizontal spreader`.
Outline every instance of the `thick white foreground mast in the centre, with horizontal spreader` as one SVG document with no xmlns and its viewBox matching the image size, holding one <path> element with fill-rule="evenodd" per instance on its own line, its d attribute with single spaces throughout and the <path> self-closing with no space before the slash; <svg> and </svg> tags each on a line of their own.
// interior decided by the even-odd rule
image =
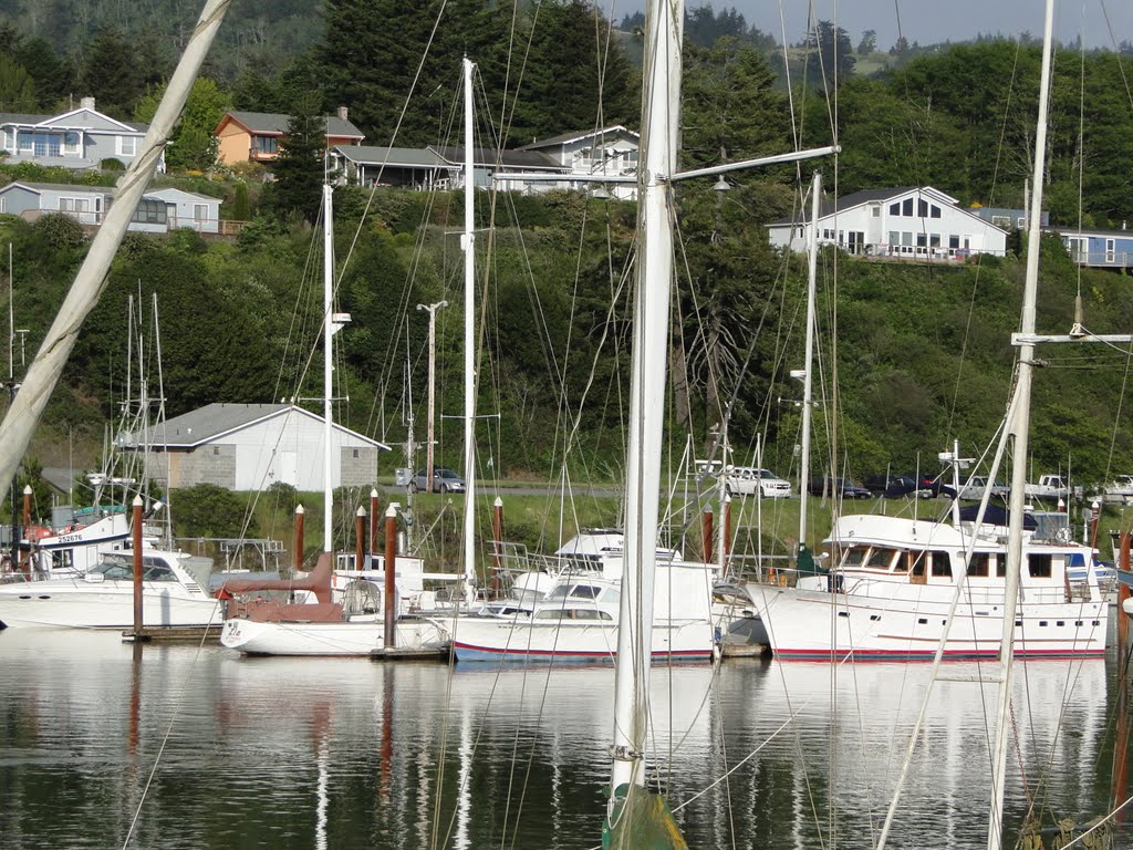
<svg viewBox="0 0 1133 850">
<path fill-rule="evenodd" d="M 662 411 L 673 280 L 672 184 L 681 87 L 682 0 L 646 11 L 641 168 L 638 173 L 638 286 L 633 315 L 625 482 L 625 560 L 615 663 L 611 790 L 645 784 L 653 646 L 654 571 L 661 498 Z M 611 800 L 616 794 L 611 794 Z"/>
</svg>

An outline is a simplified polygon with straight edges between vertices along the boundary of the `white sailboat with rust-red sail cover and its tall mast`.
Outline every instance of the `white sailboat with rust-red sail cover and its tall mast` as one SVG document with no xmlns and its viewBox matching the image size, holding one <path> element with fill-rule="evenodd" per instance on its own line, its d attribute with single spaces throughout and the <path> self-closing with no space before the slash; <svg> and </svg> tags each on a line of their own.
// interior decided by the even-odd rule
<svg viewBox="0 0 1133 850">
<path fill-rule="evenodd" d="M 310 593 L 314 598 L 299 604 L 230 603 L 229 617 L 221 631 L 221 644 L 247 655 L 357 655 L 369 656 L 383 645 L 395 648 L 436 649 L 448 646 L 449 635 L 443 624 L 408 614 L 400 594 L 386 605 L 395 606 L 392 641 L 386 640 L 386 618 L 381 611 L 348 613 L 332 600 L 334 580 L 333 549 L 333 339 L 349 321 L 349 315 L 333 312 L 334 231 L 333 187 L 323 186 L 323 554 L 315 570 L 297 581 L 228 581 L 218 592 L 222 598 L 259 590 Z M 385 560 L 389 567 L 390 559 Z M 419 566 L 419 562 L 417 562 Z M 355 564 L 351 575 L 360 576 L 363 564 Z M 395 569 L 395 567 L 394 567 Z M 365 571 L 365 578 L 384 579 L 384 569 Z M 389 584 L 386 585 L 389 587 Z"/>
</svg>

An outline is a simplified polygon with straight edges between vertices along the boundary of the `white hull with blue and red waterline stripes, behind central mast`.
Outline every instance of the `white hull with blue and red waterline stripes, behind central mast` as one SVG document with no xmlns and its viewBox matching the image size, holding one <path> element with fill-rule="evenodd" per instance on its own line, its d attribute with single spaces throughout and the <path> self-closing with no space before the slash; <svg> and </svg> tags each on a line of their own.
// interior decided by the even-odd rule
<svg viewBox="0 0 1133 850">
<path fill-rule="evenodd" d="M 654 663 L 707 661 L 715 652 L 704 620 L 655 622 Z M 457 661 L 514 663 L 611 663 L 617 656 L 617 626 L 611 622 L 530 622 L 461 618 L 453 628 Z"/>
</svg>

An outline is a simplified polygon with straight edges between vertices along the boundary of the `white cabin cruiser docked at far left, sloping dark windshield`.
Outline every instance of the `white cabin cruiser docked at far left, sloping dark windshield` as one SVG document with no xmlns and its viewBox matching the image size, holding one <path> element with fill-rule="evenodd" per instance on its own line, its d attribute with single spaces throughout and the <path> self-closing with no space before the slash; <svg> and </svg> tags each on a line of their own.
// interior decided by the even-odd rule
<svg viewBox="0 0 1133 850">
<path fill-rule="evenodd" d="M 208 595 L 212 561 L 147 549 L 143 562 L 146 626 L 219 626 Z M 134 624 L 134 553 L 112 552 L 82 576 L 0 585 L 0 621 L 8 628 L 126 629 Z"/>
</svg>

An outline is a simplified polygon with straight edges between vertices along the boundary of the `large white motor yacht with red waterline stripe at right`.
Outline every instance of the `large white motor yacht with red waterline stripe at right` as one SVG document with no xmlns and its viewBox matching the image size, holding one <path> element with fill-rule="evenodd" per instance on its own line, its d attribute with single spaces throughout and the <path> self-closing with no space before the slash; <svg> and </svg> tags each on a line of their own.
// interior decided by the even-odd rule
<svg viewBox="0 0 1133 850">
<path fill-rule="evenodd" d="M 1015 655 L 1102 655 L 1108 605 L 1093 550 L 1071 542 L 1065 525 L 1030 522 L 1030 518 L 1029 525 L 1023 535 Z M 998 655 L 1006 589 L 1005 527 L 849 516 L 837 520 L 826 545 L 837 559 L 829 572 L 800 577 L 795 587 L 748 586 L 778 657 L 928 661 L 945 635 L 946 658 Z M 963 586 L 957 587 L 962 577 Z"/>
</svg>

